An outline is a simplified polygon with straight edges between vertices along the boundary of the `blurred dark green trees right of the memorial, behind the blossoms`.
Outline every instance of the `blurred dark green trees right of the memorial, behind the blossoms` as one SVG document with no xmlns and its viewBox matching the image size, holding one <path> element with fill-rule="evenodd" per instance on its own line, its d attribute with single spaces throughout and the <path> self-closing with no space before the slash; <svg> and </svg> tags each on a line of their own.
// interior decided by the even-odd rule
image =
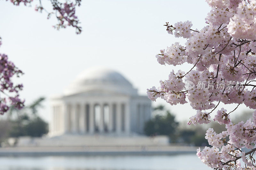
<svg viewBox="0 0 256 170">
<path fill-rule="evenodd" d="M 147 121 L 144 125 L 144 132 L 148 136 L 167 135 L 171 143 L 179 143 L 192 146 L 209 146 L 207 139 L 205 139 L 206 130 L 211 127 L 217 133 L 225 131 L 225 125 L 220 125 L 217 122 L 211 122 L 207 125 L 187 125 L 187 122 L 177 122 L 175 116 L 163 105 L 158 105 L 153 108 L 154 117 Z M 243 113 L 237 120 L 246 119 L 252 113 Z"/>
</svg>

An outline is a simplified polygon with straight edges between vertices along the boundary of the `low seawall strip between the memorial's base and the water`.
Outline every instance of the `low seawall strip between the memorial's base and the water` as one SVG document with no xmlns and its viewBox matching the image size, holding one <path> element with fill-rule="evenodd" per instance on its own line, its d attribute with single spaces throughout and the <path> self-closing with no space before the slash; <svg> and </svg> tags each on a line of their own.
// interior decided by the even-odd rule
<svg viewBox="0 0 256 170">
<path fill-rule="evenodd" d="M 188 146 L 116 146 L 116 147 L 6 147 L 3 156 L 125 156 L 196 154 L 198 147 Z"/>
</svg>

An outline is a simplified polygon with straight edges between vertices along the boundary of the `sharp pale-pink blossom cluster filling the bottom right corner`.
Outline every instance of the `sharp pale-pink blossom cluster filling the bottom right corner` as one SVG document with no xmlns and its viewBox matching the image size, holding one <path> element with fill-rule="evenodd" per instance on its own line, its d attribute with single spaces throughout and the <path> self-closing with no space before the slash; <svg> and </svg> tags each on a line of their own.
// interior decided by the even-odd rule
<svg viewBox="0 0 256 170">
<path fill-rule="evenodd" d="M 222 109 L 221 112 L 226 112 Z M 205 147 L 202 151 L 197 150 L 197 156 L 207 166 L 214 169 L 255 169 L 255 159 L 253 158 L 256 148 L 252 143 L 256 143 L 256 111 L 253 119 L 243 121 L 234 125 L 230 121 L 226 124 L 226 131 L 216 134 L 212 128 L 206 131 L 205 138 L 212 148 Z M 242 148 L 251 149 L 244 152 Z M 241 161 L 246 167 L 242 167 Z"/>
</svg>

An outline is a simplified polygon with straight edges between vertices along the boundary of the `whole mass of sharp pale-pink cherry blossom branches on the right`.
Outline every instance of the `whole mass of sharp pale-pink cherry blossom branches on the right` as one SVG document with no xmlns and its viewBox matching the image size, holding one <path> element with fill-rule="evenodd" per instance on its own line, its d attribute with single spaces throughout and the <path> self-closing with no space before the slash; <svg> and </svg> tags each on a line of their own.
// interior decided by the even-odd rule
<svg viewBox="0 0 256 170">
<path fill-rule="evenodd" d="M 244 104 L 256 109 L 256 0 L 206 0 L 212 8 L 206 26 L 192 28 L 190 21 L 173 25 L 167 32 L 179 42 L 156 55 L 161 65 L 191 64 L 184 72 L 172 72 L 158 88 L 148 89 L 148 98 L 164 99 L 171 105 L 188 103 L 196 110 L 188 124 L 216 121 L 227 130 L 216 134 L 208 129 L 206 139 L 212 147 L 198 150 L 197 156 L 215 169 L 256 169 L 256 111 L 253 120 L 233 124 L 230 114 Z M 218 109 L 220 103 L 236 104 L 234 110 Z M 213 120 L 211 120 L 211 117 Z M 243 152 L 242 148 L 250 149 Z M 245 166 L 241 166 L 243 161 Z"/>
</svg>

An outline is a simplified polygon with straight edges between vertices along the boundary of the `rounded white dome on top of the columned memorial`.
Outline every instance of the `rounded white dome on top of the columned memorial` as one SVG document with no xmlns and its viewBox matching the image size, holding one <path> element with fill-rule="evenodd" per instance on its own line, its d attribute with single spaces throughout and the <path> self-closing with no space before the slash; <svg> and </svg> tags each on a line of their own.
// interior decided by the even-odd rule
<svg viewBox="0 0 256 170">
<path fill-rule="evenodd" d="M 75 80 L 65 89 L 64 94 L 72 95 L 88 91 L 106 91 L 126 95 L 137 94 L 137 89 L 134 89 L 122 74 L 102 67 L 86 69 L 78 74 Z"/>
</svg>

